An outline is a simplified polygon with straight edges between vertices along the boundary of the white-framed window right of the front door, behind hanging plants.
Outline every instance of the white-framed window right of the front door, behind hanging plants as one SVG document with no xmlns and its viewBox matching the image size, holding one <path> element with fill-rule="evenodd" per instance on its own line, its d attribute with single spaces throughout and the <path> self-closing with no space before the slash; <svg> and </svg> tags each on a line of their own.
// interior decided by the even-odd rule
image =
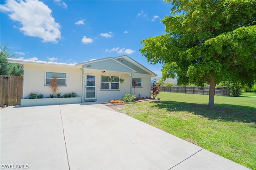
<svg viewBox="0 0 256 170">
<path fill-rule="evenodd" d="M 119 89 L 119 77 L 112 76 L 114 81 L 110 83 L 108 81 L 109 76 L 101 76 L 100 77 L 100 89 Z"/>
</svg>

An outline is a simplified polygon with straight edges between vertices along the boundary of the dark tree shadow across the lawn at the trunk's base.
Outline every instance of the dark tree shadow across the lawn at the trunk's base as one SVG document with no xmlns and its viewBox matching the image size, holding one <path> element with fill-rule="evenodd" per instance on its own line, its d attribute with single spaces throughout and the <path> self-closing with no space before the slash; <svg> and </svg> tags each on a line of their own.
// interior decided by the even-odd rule
<svg viewBox="0 0 256 170">
<path fill-rule="evenodd" d="M 200 117 L 218 121 L 256 123 L 256 108 L 230 104 L 215 104 L 210 108 L 206 104 L 194 104 L 174 101 L 154 101 L 152 107 L 167 111 L 188 111 Z M 256 126 L 255 126 L 256 127 Z"/>
</svg>

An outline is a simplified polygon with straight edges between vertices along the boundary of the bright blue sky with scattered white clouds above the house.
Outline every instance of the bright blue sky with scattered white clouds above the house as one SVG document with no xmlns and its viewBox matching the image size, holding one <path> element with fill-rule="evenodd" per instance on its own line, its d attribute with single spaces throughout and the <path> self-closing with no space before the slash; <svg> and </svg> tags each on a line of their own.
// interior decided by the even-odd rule
<svg viewBox="0 0 256 170">
<path fill-rule="evenodd" d="M 0 41 L 23 59 L 81 63 L 128 55 L 147 63 L 140 41 L 164 34 L 171 4 L 156 1 L 0 1 Z"/>
</svg>

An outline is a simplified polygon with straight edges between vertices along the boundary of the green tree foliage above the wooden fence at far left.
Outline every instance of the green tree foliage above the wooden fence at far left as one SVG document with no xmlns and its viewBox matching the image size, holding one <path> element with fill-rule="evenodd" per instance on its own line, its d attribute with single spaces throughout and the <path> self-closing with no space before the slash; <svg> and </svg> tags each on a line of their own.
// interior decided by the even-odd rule
<svg viewBox="0 0 256 170">
<path fill-rule="evenodd" d="M 14 55 L 9 54 L 9 48 L 7 45 L 1 45 L 1 60 L 0 60 L 0 73 L 6 76 L 23 76 L 23 67 L 15 64 L 8 63 L 6 59 L 9 57 L 14 57 Z"/>
</svg>

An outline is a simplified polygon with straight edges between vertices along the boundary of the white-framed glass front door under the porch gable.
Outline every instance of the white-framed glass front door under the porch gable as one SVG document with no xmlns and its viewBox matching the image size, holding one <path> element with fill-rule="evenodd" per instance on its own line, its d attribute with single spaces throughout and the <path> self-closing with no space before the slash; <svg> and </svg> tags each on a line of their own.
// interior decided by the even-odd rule
<svg viewBox="0 0 256 170">
<path fill-rule="evenodd" d="M 96 75 L 86 74 L 85 84 L 85 101 L 96 101 Z"/>
</svg>

